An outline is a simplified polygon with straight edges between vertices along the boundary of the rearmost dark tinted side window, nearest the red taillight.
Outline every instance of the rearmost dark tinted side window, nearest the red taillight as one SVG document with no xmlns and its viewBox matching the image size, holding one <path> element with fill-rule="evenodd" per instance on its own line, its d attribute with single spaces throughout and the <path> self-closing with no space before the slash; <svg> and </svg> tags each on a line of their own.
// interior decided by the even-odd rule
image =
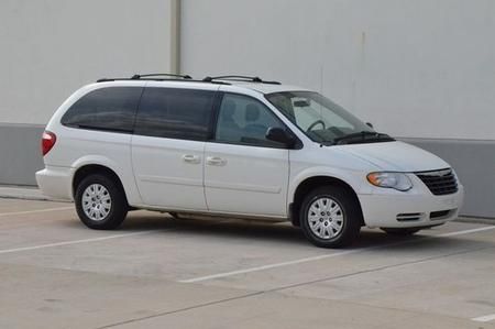
<svg viewBox="0 0 495 329">
<path fill-rule="evenodd" d="M 142 91 L 141 87 L 108 87 L 92 90 L 67 110 L 62 118 L 62 124 L 131 133 Z"/>
</svg>

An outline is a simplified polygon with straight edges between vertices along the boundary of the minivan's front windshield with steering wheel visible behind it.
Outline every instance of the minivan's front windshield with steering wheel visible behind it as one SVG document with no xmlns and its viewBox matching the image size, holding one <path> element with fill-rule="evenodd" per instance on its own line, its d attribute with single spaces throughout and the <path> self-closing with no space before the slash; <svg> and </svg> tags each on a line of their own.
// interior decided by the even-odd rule
<svg viewBox="0 0 495 329">
<path fill-rule="evenodd" d="M 336 139 L 352 133 L 374 132 L 364 122 L 318 92 L 284 91 L 265 97 L 315 142 L 333 143 Z"/>
</svg>

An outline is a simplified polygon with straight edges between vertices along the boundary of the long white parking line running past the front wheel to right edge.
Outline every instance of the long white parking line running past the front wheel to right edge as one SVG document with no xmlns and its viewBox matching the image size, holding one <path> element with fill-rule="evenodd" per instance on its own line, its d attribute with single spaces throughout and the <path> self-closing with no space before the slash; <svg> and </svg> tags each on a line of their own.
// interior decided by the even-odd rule
<svg viewBox="0 0 495 329">
<path fill-rule="evenodd" d="M 495 230 L 495 226 L 482 227 L 482 228 L 477 228 L 477 229 L 457 231 L 457 232 L 450 232 L 450 233 L 436 234 L 436 235 L 431 235 L 431 237 L 425 237 L 425 239 L 455 237 L 455 235 L 462 235 L 462 234 L 469 234 L 469 233 L 488 231 L 488 230 Z M 383 245 L 348 250 L 348 251 L 343 251 L 343 252 L 305 257 L 305 259 L 299 259 L 299 260 L 294 260 L 294 261 L 288 261 L 288 262 L 274 263 L 274 264 L 267 264 L 267 265 L 263 265 L 263 266 L 256 266 L 256 267 L 243 268 L 243 270 L 238 270 L 238 271 L 223 272 L 223 273 L 217 273 L 217 274 L 211 274 L 211 275 L 206 275 L 206 276 L 180 279 L 178 282 L 179 283 L 202 282 L 202 281 L 208 281 L 208 279 L 212 279 L 212 278 L 227 277 L 227 276 L 232 276 L 232 275 L 258 272 L 258 271 L 271 270 L 271 268 L 283 267 L 283 266 L 295 265 L 295 264 L 307 263 L 307 262 L 314 262 L 314 261 L 319 261 L 319 260 L 324 260 L 324 259 L 331 259 L 331 257 L 342 256 L 342 255 L 346 255 L 346 254 L 353 254 L 353 253 L 359 253 L 359 252 L 363 252 L 363 251 L 367 251 L 367 250 L 373 250 L 373 249 L 378 249 L 378 248 L 384 248 L 384 246 L 389 246 L 389 245 L 396 245 L 396 244 L 403 244 L 403 243 L 409 243 L 409 242 L 411 242 L 411 241 L 408 240 L 408 241 L 404 241 L 404 242 L 394 242 L 394 243 L 388 243 L 388 244 L 383 244 Z"/>
</svg>

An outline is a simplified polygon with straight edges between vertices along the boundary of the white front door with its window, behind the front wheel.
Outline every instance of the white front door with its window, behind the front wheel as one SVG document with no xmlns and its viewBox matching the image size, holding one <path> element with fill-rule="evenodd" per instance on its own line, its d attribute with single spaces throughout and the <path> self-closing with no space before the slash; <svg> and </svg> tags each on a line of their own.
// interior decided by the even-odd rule
<svg viewBox="0 0 495 329">
<path fill-rule="evenodd" d="M 205 193 L 211 211 L 287 216 L 289 150 L 266 140 L 284 123 L 260 100 L 226 92 L 213 140 L 205 149 Z"/>
</svg>

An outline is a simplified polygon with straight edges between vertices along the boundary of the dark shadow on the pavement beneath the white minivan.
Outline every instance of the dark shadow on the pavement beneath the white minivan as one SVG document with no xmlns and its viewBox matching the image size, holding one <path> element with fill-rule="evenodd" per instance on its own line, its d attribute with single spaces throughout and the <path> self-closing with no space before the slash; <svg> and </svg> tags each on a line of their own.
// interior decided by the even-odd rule
<svg viewBox="0 0 495 329">
<path fill-rule="evenodd" d="M 252 220 L 230 219 L 174 219 L 165 213 L 143 212 L 131 215 L 120 228 L 120 231 L 157 230 L 166 234 L 167 231 L 195 237 L 198 234 L 216 239 L 256 239 L 267 242 L 286 242 L 292 244 L 311 245 L 302 231 L 288 222 L 263 222 Z M 438 233 L 432 233 L 432 231 Z M 344 250 L 393 248 L 394 251 L 420 249 L 454 248 L 460 243 L 475 243 L 477 246 L 495 246 L 488 241 L 472 240 L 469 237 L 435 237 L 441 232 L 440 228 L 420 231 L 415 235 L 397 237 L 387 234 L 378 229 L 363 228 L 359 239 Z"/>
</svg>

